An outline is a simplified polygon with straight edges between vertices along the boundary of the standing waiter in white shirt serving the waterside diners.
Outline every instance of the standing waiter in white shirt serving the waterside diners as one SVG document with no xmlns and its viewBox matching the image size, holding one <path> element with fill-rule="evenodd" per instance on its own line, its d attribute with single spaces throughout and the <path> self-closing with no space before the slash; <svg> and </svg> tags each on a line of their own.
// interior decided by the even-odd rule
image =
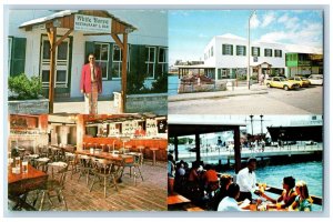
<svg viewBox="0 0 333 222">
<path fill-rule="evenodd" d="M 236 176 L 236 183 L 240 185 L 240 196 L 238 201 L 249 199 L 252 201 L 252 193 L 256 190 L 256 176 L 254 170 L 256 168 L 256 159 L 250 158 L 246 168 L 242 169 Z"/>
</svg>

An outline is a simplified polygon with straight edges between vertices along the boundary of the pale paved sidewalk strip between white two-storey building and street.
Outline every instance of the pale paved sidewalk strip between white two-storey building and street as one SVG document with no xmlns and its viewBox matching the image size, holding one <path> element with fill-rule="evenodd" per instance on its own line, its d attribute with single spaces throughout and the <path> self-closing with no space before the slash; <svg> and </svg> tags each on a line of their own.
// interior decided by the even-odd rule
<svg viewBox="0 0 333 222">
<path fill-rule="evenodd" d="M 199 100 L 199 99 L 214 99 L 214 98 L 226 98 L 236 95 L 250 95 L 250 94 L 265 94 L 268 93 L 268 88 L 265 85 L 252 84 L 250 90 L 246 85 L 233 87 L 226 91 L 216 92 L 193 92 L 193 93 L 182 93 L 176 95 L 169 95 L 169 102 L 175 101 L 186 101 L 186 100 Z"/>
</svg>

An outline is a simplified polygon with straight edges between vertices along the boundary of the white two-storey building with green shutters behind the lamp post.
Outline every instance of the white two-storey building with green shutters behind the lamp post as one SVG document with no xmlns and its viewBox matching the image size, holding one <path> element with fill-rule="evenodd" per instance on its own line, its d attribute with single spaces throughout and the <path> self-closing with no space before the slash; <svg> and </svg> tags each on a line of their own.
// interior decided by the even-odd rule
<svg viewBox="0 0 333 222">
<path fill-rule="evenodd" d="M 203 67 L 211 67 L 205 69 L 205 74 L 215 80 L 245 77 L 249 62 L 248 43 L 248 39 L 230 33 L 214 37 L 204 48 Z M 251 41 L 250 47 L 251 77 L 261 73 L 286 77 L 297 74 L 287 70 L 286 53 L 322 54 L 321 49 L 304 46 Z"/>
</svg>

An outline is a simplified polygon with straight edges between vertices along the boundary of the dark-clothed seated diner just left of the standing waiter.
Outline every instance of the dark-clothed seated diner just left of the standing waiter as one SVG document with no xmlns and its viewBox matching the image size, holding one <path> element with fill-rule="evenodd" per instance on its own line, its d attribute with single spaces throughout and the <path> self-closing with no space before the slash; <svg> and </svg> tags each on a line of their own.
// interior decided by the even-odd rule
<svg viewBox="0 0 333 222">
<path fill-rule="evenodd" d="M 229 185 L 232 183 L 232 176 L 230 174 L 222 174 L 220 178 L 220 188 L 216 190 L 215 195 L 210 201 L 210 209 L 213 211 L 218 211 L 219 203 L 223 198 L 226 196 L 226 190 Z"/>
</svg>

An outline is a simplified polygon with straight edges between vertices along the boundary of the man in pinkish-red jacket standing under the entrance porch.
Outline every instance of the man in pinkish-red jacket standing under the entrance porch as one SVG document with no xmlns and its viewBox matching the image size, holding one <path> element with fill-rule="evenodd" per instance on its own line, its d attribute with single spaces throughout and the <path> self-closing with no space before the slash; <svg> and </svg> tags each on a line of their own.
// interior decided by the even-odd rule
<svg viewBox="0 0 333 222">
<path fill-rule="evenodd" d="M 98 97 L 102 92 L 102 72 L 95 64 L 94 54 L 90 53 L 89 63 L 82 67 L 80 89 L 84 93 L 85 113 L 98 113 Z"/>
</svg>

